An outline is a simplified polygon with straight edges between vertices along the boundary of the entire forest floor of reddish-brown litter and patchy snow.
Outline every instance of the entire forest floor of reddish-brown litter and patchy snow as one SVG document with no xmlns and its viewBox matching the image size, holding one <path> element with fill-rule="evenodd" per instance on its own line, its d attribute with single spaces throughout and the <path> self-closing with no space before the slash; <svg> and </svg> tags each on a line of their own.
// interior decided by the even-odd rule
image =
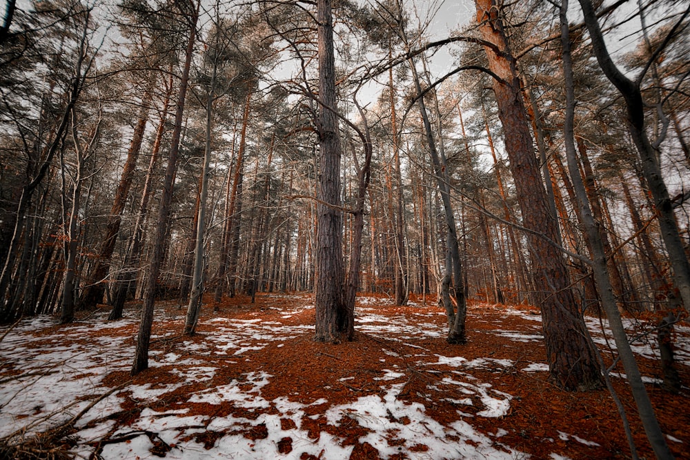
<svg viewBox="0 0 690 460">
<path fill-rule="evenodd" d="M 538 310 L 471 303 L 469 343 L 451 346 L 444 312 L 420 300 L 360 297 L 356 340 L 339 345 L 312 341 L 310 294 L 205 305 L 195 337 L 181 336 L 183 308 L 157 303 L 150 368 L 133 378 L 139 304 L 119 321 L 106 308 L 68 326 L 23 319 L 0 328 L 0 458 L 630 457 L 605 388 L 547 381 Z M 610 356 L 605 321 L 587 323 Z M 637 334 L 653 323 L 626 325 Z M 671 450 L 690 459 L 690 327 L 674 334 L 680 394 L 660 386 L 653 337 L 633 349 Z M 612 379 L 638 454 L 653 458 L 622 366 Z"/>
</svg>

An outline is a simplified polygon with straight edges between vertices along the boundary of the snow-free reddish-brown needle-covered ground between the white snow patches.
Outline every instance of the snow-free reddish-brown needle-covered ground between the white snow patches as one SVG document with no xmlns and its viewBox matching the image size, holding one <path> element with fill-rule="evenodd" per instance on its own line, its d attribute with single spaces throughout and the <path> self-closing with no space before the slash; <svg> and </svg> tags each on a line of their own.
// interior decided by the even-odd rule
<svg viewBox="0 0 690 460">
<path fill-rule="evenodd" d="M 283 308 L 294 307 L 297 303 L 304 305 L 311 303 L 312 297 L 308 294 L 294 296 L 259 295 L 255 304 L 250 303 L 246 297 L 226 299 L 219 312 L 213 312 L 212 308 L 204 305 L 201 319 L 199 320 L 199 334 L 194 341 L 204 341 L 214 334 L 214 317 L 228 317 L 235 319 L 257 319 L 275 321 L 285 325 L 313 325 L 314 310 L 303 310 L 290 318 L 283 318 Z M 384 303 L 384 302 L 382 302 Z M 373 306 L 376 313 L 391 317 L 406 317 L 410 323 L 420 321 L 420 311 L 439 311 L 437 306 L 428 307 L 397 307 L 397 306 Z M 135 308 L 131 307 L 130 308 Z M 159 308 L 159 307 L 157 307 Z M 170 339 L 154 340 L 152 350 L 181 353 L 181 347 L 177 344 L 182 340 L 179 335 L 181 324 L 184 321 L 184 312 L 175 306 L 164 306 L 169 312 L 171 321 L 157 323 L 154 333 L 160 337 L 163 334 L 175 333 Z M 522 307 L 529 314 L 538 314 L 534 308 Z M 257 312 L 260 312 L 257 315 Z M 134 314 L 132 310 L 128 314 Z M 426 317 L 423 321 L 435 321 L 443 326 L 444 317 L 436 315 L 433 319 Z M 500 325 L 500 326 L 497 326 Z M 407 361 L 406 356 L 413 356 L 415 348 L 422 346 L 431 353 L 444 356 L 462 356 L 468 360 L 482 357 L 493 359 L 510 359 L 515 361 L 512 368 L 497 366 L 491 368 L 475 368 L 472 374 L 486 383 L 491 383 L 495 390 L 506 392 L 513 396 L 509 412 L 500 419 L 473 417 L 469 419 L 475 430 L 484 434 L 495 433 L 497 428 L 507 431 L 500 437 L 500 443 L 516 450 L 531 454 L 536 459 L 546 459 L 552 453 L 561 454 L 571 459 L 604 459 L 604 458 L 629 458 L 630 451 L 627 445 L 622 423 L 609 392 L 603 388 L 591 392 L 566 392 L 551 385 L 546 381 L 546 372 L 524 372 L 520 369 L 529 363 L 544 362 L 544 346 L 540 341 L 521 343 L 507 337 L 493 333 L 496 328 L 504 330 L 524 331 L 535 333 L 535 321 L 529 321 L 514 314 L 505 314 L 502 306 L 486 306 L 485 304 L 471 304 L 467 319 L 469 342 L 464 346 L 450 346 L 444 339 L 424 338 L 394 340 L 395 334 L 390 339 L 377 334 L 357 332 L 356 340 L 339 345 L 315 343 L 312 341 L 313 330 L 305 329 L 304 332 L 286 341 L 272 341 L 262 350 L 249 350 L 243 352 L 242 358 L 230 360 L 230 356 L 209 357 L 203 354 L 190 355 L 188 352 L 183 358 L 193 357 L 201 361 L 206 360 L 211 366 L 222 364 L 213 380 L 198 384 L 198 388 L 184 387 L 184 391 L 164 394 L 155 405 L 148 405 L 153 410 L 164 411 L 170 408 L 181 408 L 180 401 L 187 401 L 190 392 L 209 388 L 214 384 L 227 383 L 231 379 L 239 379 L 239 376 L 247 372 L 265 371 L 273 375 L 268 386 L 262 388 L 262 396 L 268 400 L 281 396 L 290 396 L 291 401 L 311 404 L 317 399 L 327 399 L 328 405 L 345 404 L 354 401 L 358 397 L 367 394 L 379 394 L 381 392 L 380 381 L 373 378 L 381 375 L 382 369 L 391 368 L 397 364 L 401 372 L 405 372 L 406 384 L 398 396 L 403 401 L 417 401 L 426 406 L 426 411 L 440 423 L 451 423 L 459 418 L 459 407 L 447 401 L 449 394 L 430 390 L 435 381 L 448 374 L 451 368 L 445 365 L 417 366 L 413 361 Z M 356 327 L 356 326 L 355 326 Z M 185 338 L 188 340 L 188 338 Z M 278 346 L 279 343 L 284 346 Z M 384 353 L 388 350 L 388 353 Z M 397 357 L 390 351 L 397 353 Z M 385 362 L 383 361 L 385 360 Z M 649 359 L 639 359 L 642 372 L 648 377 L 660 377 L 661 371 L 658 362 Z M 618 366 L 618 372 L 623 372 Z M 658 419 L 665 433 L 679 439 L 682 443 L 669 442 L 673 454 L 679 459 L 690 459 L 690 368 L 678 366 L 684 383 L 680 394 L 671 394 L 658 385 L 647 385 L 647 390 L 656 408 Z M 438 372 L 433 372 L 438 371 Z M 340 381 L 342 377 L 355 375 L 355 379 Z M 111 374 L 107 385 L 124 383 L 130 379 L 125 372 Z M 156 367 L 146 370 L 134 378 L 134 383 L 144 384 L 155 382 L 165 384 L 171 379 L 168 368 Z M 627 383 L 623 379 L 614 378 L 613 384 L 616 392 L 630 418 L 631 428 L 635 437 L 640 457 L 653 458 L 653 453 L 644 436 L 640 421 L 635 414 L 635 406 L 631 399 Z M 431 394 L 430 394 L 431 393 Z M 424 398 L 426 396 L 426 398 Z M 427 399 L 431 397 L 431 401 Z M 142 409 L 137 401 L 130 399 L 128 412 L 119 414 L 119 422 L 122 425 L 130 423 L 137 417 Z M 193 413 L 204 413 L 213 417 L 214 414 L 227 414 L 233 412 L 239 417 L 256 417 L 256 414 L 242 413 L 242 410 L 229 406 L 195 404 Z M 481 403 L 473 406 L 462 406 L 464 412 L 477 412 Z M 324 411 L 324 406 L 309 406 L 307 415 L 318 415 Z M 351 459 L 377 459 L 377 450 L 368 444 L 360 444 L 359 437 L 366 434 L 366 429 L 359 426 L 356 420 L 346 421 L 338 427 L 329 426 L 324 417 L 315 417 L 311 420 L 305 417 L 304 429 L 310 431 L 310 436 L 318 437 L 319 432 L 327 431 L 346 439 L 346 444 L 354 445 Z M 293 428 L 293 421 L 282 419 L 283 429 Z M 310 425 L 311 423 L 311 425 Z M 402 421 L 405 423 L 405 421 Z M 265 428 L 265 427 L 264 427 Z M 598 443 L 599 446 L 586 446 L 583 443 L 570 438 L 566 441 L 560 439 L 559 432 L 574 434 L 587 441 Z M 262 439 L 266 433 L 262 427 L 255 427 L 251 432 L 243 433 L 249 439 Z M 205 432 L 199 434 L 197 441 L 213 446 L 218 437 L 223 433 Z M 292 450 L 292 440 L 282 439 L 277 449 L 287 453 Z M 426 446 L 417 446 L 416 450 L 424 452 Z M 164 452 L 161 452 L 164 453 Z M 324 456 L 327 458 L 327 454 Z M 399 457 L 405 458 L 405 457 Z"/>
</svg>

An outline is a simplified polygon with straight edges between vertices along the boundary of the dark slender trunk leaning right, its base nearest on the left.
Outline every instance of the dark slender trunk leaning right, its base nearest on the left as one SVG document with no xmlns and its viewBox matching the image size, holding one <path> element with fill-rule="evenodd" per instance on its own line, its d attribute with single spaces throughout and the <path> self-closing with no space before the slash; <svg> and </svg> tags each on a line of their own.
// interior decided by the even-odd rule
<svg viewBox="0 0 690 460">
<path fill-rule="evenodd" d="M 159 206 L 158 222 L 154 239 L 153 254 L 146 279 L 144 290 L 144 306 L 141 309 L 141 323 L 139 323 L 139 334 L 137 335 L 137 350 L 134 362 L 132 363 L 132 375 L 139 374 L 148 368 L 148 346 L 151 340 L 151 327 L 153 324 L 153 303 L 155 301 L 156 283 L 160 272 L 161 263 L 164 257 L 164 242 L 168 230 L 168 214 L 170 214 L 170 203 L 172 202 L 172 186 L 175 172 L 177 172 L 177 157 L 179 154 L 179 139 L 182 132 L 182 118 L 184 115 L 184 102 L 187 95 L 189 81 L 189 69 L 194 52 L 196 37 L 197 17 L 199 14 L 199 3 L 195 8 L 195 13 L 190 18 L 189 39 L 182 68 L 182 78 L 179 84 L 179 94 L 177 96 L 177 111 L 175 112 L 175 127 L 172 130 L 170 140 L 170 153 L 168 154 L 168 167 L 163 183 L 163 194 Z"/>
</svg>

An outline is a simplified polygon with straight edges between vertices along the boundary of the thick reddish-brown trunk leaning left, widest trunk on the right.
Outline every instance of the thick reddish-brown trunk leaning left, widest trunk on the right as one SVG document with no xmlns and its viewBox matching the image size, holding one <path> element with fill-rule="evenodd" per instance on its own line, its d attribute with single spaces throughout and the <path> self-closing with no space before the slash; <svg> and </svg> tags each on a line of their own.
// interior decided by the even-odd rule
<svg viewBox="0 0 690 460">
<path fill-rule="evenodd" d="M 549 379 L 567 390 L 598 388 L 601 375 L 595 352 L 586 339 L 582 313 L 571 291 L 564 257 L 551 243 L 558 241 L 558 234 L 540 177 L 515 58 L 508 46 L 495 1 L 476 0 L 476 6 L 482 38 L 491 43 L 491 46 L 484 46 L 489 68 L 501 79 L 493 81 L 493 91 L 504 128 L 506 152 L 523 225 L 535 232 L 529 234 L 529 242 L 534 282 L 538 289 L 535 294 L 542 311 Z"/>
</svg>

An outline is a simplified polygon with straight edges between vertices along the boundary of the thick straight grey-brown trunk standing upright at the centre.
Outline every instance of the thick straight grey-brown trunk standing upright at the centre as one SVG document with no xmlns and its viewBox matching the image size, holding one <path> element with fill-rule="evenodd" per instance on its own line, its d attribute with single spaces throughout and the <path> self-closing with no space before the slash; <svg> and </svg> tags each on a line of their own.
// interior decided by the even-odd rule
<svg viewBox="0 0 690 460">
<path fill-rule="evenodd" d="M 346 332 L 340 137 L 335 101 L 331 0 L 317 1 L 319 42 L 319 188 L 317 197 L 316 341 L 339 343 Z"/>
</svg>

